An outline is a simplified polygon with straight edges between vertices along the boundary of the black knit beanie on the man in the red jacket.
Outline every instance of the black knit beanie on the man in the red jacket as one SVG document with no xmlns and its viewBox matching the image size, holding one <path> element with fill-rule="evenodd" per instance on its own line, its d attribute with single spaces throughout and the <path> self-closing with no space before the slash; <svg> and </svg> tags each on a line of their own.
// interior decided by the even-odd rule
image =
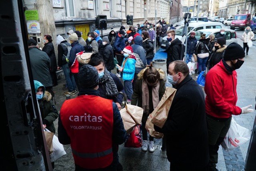
<svg viewBox="0 0 256 171">
<path fill-rule="evenodd" d="M 239 44 L 232 42 L 227 46 L 223 59 L 224 61 L 237 60 L 239 58 L 244 58 L 244 55 L 244 49 Z"/>
</svg>

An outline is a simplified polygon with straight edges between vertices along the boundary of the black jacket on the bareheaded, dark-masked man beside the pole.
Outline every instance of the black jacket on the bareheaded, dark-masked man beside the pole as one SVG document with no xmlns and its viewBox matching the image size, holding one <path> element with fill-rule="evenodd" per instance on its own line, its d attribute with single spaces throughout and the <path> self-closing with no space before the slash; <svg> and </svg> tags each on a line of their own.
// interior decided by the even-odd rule
<svg viewBox="0 0 256 171">
<path fill-rule="evenodd" d="M 182 42 L 176 38 L 170 46 L 167 49 L 167 59 L 166 59 L 166 64 L 167 64 L 167 71 L 169 64 L 173 61 L 180 60 L 180 48 L 181 48 Z"/>
</svg>

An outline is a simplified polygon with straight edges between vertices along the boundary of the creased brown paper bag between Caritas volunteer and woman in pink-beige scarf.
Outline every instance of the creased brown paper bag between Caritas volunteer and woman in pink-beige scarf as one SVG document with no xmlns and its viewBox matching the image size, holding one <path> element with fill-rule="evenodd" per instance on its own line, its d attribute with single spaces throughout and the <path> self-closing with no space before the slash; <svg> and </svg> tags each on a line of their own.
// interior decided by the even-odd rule
<svg viewBox="0 0 256 171">
<path fill-rule="evenodd" d="M 120 110 L 126 134 L 130 134 L 134 127 L 141 124 L 143 109 L 135 105 L 126 104 L 125 108 Z"/>
</svg>

